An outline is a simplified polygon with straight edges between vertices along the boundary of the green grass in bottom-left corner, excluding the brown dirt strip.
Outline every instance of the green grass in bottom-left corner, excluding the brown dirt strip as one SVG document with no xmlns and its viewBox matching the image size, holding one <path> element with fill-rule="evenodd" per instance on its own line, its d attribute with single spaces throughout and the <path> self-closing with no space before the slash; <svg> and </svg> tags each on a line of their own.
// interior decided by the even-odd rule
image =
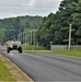
<svg viewBox="0 0 81 82">
<path fill-rule="evenodd" d="M 1 58 L 2 57 L 0 56 L 0 82 L 2 81 L 5 81 L 5 82 L 14 81 L 15 82 L 15 79 L 9 72 L 9 69 L 4 66 L 5 61 L 2 61 Z"/>
</svg>

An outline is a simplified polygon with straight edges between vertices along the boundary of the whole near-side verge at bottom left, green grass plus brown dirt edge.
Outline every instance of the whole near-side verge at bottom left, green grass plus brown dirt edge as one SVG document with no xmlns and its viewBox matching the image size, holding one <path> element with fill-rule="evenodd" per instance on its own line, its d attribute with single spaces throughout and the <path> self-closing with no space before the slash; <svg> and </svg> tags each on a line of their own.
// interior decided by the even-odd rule
<svg viewBox="0 0 81 82">
<path fill-rule="evenodd" d="M 18 66 L 0 54 L 0 82 L 34 82 Z"/>
</svg>

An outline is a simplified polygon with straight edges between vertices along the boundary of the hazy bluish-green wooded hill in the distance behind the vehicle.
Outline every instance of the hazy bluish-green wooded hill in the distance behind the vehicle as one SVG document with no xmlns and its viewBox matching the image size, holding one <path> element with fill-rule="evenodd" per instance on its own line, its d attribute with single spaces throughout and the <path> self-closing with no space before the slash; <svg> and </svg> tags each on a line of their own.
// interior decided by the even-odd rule
<svg viewBox="0 0 81 82">
<path fill-rule="evenodd" d="M 21 32 L 38 28 L 42 16 L 18 16 L 0 20 L 0 40 L 16 39 Z"/>
</svg>

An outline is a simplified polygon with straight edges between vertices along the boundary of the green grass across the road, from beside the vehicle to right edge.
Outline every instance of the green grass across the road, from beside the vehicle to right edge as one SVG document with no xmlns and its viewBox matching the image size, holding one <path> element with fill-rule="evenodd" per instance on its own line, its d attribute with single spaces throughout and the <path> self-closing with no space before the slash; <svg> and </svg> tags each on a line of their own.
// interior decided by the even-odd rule
<svg viewBox="0 0 81 82">
<path fill-rule="evenodd" d="M 47 55 L 67 55 L 67 56 L 74 56 L 81 57 L 81 49 L 72 49 L 72 50 L 48 50 L 45 47 L 36 47 L 30 45 L 23 45 L 23 50 L 27 52 L 35 52 L 35 54 L 47 54 Z"/>
</svg>

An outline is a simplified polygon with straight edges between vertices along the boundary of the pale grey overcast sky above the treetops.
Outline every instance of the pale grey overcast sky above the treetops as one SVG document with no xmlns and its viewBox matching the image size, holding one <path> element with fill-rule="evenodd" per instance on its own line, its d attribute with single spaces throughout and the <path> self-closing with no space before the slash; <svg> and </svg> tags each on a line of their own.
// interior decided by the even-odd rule
<svg viewBox="0 0 81 82">
<path fill-rule="evenodd" d="M 21 15 L 48 15 L 61 0 L 0 0 L 0 19 Z"/>
</svg>

